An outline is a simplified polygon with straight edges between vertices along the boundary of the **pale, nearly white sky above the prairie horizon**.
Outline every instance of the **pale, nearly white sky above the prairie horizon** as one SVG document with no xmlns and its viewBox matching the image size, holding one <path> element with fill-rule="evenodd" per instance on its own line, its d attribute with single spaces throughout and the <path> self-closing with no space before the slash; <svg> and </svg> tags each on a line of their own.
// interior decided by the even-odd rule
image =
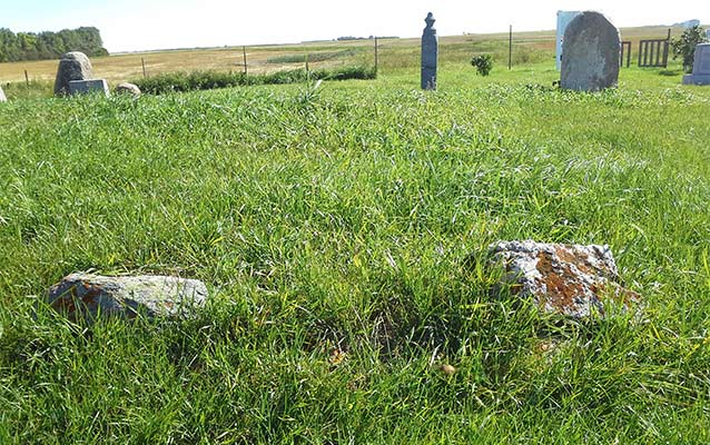
<svg viewBox="0 0 710 445">
<path fill-rule="evenodd" d="M 440 36 L 554 29 L 558 10 L 596 10 L 617 27 L 710 23 L 710 0 L 0 0 L 0 28 L 93 26 L 110 52 L 289 43 L 341 36 L 418 37 L 434 12 Z"/>
</svg>

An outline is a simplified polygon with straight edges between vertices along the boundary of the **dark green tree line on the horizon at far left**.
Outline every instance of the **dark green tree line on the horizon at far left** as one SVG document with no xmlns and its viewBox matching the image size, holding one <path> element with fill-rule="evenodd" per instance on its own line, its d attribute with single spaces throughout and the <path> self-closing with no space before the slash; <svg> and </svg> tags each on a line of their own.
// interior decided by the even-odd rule
<svg viewBox="0 0 710 445">
<path fill-rule="evenodd" d="M 0 62 L 58 59 L 69 51 L 81 51 L 89 57 L 108 56 L 101 33 L 93 27 L 17 34 L 0 28 Z"/>
</svg>

